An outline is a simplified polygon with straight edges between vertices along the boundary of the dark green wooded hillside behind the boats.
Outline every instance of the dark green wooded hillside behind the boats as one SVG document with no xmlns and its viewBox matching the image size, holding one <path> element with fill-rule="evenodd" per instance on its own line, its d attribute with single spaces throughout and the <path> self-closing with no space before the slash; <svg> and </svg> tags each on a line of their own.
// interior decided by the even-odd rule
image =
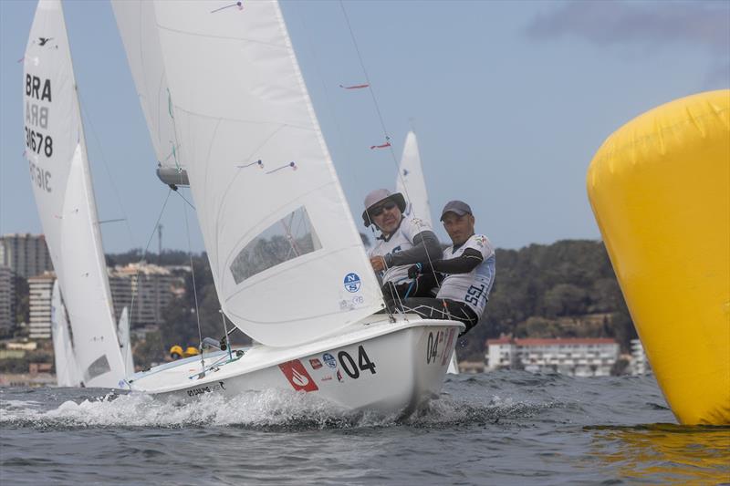
<svg viewBox="0 0 730 486">
<path fill-rule="evenodd" d="M 108 262 L 139 262 L 141 256 L 139 250 L 133 250 L 108 255 Z M 145 259 L 160 264 L 191 262 L 188 253 L 177 251 L 151 253 Z M 207 256 L 193 254 L 192 261 L 194 273 L 185 276 L 183 295 L 165 309 L 159 332 L 149 333 L 146 342 L 136 346 L 138 362 L 159 360 L 173 345 L 197 346 L 198 321 L 203 337 L 223 336 L 223 316 L 218 312 Z M 228 329 L 233 326 L 226 325 Z M 603 243 L 563 240 L 519 250 L 497 249 L 495 285 L 485 317 L 460 340 L 459 358 L 481 360 L 485 340 L 501 335 L 613 337 L 628 351 L 636 331 Z M 250 342 L 238 331 L 232 339 L 240 344 Z"/>
</svg>

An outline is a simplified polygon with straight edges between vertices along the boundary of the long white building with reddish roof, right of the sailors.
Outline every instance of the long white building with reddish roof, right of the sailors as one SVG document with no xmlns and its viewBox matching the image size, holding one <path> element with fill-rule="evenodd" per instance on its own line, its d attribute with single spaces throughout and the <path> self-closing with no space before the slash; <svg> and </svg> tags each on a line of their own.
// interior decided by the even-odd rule
<svg viewBox="0 0 730 486">
<path fill-rule="evenodd" d="M 486 366 L 558 372 L 574 377 L 607 377 L 619 357 L 619 343 L 602 337 L 514 339 L 486 341 Z"/>
</svg>

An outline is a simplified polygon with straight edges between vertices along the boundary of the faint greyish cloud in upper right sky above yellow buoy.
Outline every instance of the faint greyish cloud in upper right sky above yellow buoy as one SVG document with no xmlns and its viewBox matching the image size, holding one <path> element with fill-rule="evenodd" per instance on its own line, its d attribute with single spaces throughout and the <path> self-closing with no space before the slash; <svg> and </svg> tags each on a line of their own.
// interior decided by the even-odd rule
<svg viewBox="0 0 730 486">
<path fill-rule="evenodd" d="M 568 2 L 538 15 L 527 36 L 578 36 L 596 45 L 691 43 L 730 56 L 730 2 Z"/>
</svg>

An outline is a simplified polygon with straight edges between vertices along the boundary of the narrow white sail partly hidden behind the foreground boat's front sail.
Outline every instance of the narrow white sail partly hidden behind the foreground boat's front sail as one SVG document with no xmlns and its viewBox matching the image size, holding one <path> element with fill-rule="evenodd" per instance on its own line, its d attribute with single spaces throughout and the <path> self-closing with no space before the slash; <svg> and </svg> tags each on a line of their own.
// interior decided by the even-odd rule
<svg viewBox="0 0 730 486">
<path fill-rule="evenodd" d="M 183 170 L 172 119 L 172 98 L 167 87 L 154 5 L 142 0 L 111 0 L 124 50 L 155 156 L 162 167 Z"/>
</svg>

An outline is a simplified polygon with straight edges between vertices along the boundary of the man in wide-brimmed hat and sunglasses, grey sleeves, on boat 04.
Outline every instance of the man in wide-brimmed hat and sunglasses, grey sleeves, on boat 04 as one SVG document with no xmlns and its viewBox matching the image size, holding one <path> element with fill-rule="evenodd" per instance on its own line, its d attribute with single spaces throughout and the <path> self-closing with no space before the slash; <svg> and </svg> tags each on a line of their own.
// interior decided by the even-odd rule
<svg viewBox="0 0 730 486">
<path fill-rule="evenodd" d="M 381 277 L 386 300 L 405 296 L 413 281 L 408 276 L 409 265 L 428 262 L 441 254 L 441 245 L 431 226 L 412 214 L 404 215 L 405 207 L 400 192 L 377 189 L 365 198 L 362 212 L 365 226 L 374 223 L 381 232 L 370 250 L 370 264 Z"/>
</svg>

